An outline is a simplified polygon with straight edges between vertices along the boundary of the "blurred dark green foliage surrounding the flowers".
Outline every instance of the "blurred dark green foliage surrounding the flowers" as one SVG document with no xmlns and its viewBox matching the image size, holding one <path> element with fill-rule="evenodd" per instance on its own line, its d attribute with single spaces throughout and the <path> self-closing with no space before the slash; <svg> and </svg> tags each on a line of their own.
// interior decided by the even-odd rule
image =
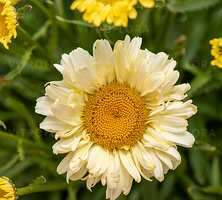
<svg viewBox="0 0 222 200">
<path fill-rule="evenodd" d="M 210 65 L 209 40 L 222 36 L 221 0 L 159 0 L 156 8 L 138 5 L 138 18 L 127 29 L 104 24 L 100 28 L 81 21 L 69 9 L 71 0 L 23 0 L 17 6 L 18 37 L 10 50 L 0 47 L 0 176 L 17 187 L 32 184 L 44 193 L 21 200 L 102 200 L 105 188 L 87 191 L 83 182 L 69 185 L 56 174 L 62 157 L 54 156 L 51 134 L 41 131 L 43 117 L 35 114 L 36 98 L 44 84 L 60 80 L 53 63 L 76 47 L 92 52 L 93 42 L 111 44 L 126 34 L 141 36 L 143 48 L 165 51 L 178 61 L 180 82 L 190 82 L 189 96 L 198 106 L 190 120 L 196 138 L 190 150 L 179 148 L 182 164 L 163 183 L 142 181 L 128 200 L 222 199 L 222 69 Z M 4 122 L 4 123 L 3 123 Z"/>
</svg>

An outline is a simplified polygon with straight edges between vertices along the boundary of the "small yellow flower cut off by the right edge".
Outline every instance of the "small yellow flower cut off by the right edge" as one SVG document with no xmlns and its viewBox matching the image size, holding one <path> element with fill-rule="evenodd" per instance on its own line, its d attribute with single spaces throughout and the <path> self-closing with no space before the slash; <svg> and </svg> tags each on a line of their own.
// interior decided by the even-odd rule
<svg viewBox="0 0 222 200">
<path fill-rule="evenodd" d="M 210 44 L 212 46 L 211 55 L 214 57 L 211 64 L 222 68 L 222 38 L 212 39 Z"/>
</svg>

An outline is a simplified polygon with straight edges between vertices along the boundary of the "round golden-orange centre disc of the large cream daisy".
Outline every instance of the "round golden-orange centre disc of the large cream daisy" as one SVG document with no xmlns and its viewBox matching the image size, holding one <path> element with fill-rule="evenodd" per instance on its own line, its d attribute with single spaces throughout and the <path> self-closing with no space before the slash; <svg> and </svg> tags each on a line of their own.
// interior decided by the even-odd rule
<svg viewBox="0 0 222 200">
<path fill-rule="evenodd" d="M 88 96 L 83 119 L 91 140 L 112 150 L 136 144 L 147 116 L 145 100 L 135 89 L 111 83 Z"/>
</svg>

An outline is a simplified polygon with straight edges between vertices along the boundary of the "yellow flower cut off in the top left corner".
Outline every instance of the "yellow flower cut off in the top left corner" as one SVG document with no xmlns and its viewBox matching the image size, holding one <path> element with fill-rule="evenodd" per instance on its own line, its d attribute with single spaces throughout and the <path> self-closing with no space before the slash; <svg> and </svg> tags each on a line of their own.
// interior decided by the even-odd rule
<svg viewBox="0 0 222 200">
<path fill-rule="evenodd" d="M 15 2 L 13 2 L 15 3 Z M 9 0 L 0 0 L 0 43 L 8 49 L 11 39 L 16 37 L 16 10 Z"/>
</svg>

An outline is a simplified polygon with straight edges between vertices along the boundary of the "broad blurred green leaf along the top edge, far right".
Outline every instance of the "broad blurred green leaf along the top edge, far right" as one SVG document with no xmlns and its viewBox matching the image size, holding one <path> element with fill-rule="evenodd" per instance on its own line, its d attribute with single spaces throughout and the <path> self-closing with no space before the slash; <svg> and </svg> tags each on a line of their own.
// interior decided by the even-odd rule
<svg viewBox="0 0 222 200">
<path fill-rule="evenodd" d="M 209 8 L 220 0 L 169 0 L 167 8 L 172 12 L 189 12 Z"/>
</svg>

